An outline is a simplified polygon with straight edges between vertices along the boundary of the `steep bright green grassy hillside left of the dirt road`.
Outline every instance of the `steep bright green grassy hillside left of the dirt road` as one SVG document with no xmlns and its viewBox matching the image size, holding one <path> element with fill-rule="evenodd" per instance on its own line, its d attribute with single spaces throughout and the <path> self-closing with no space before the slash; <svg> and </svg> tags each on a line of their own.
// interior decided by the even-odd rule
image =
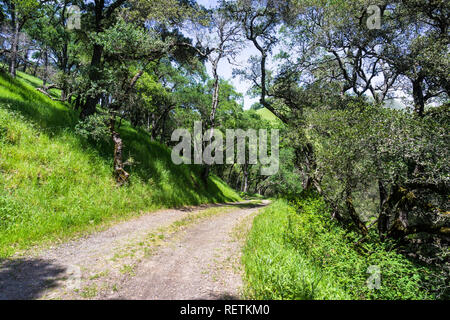
<svg viewBox="0 0 450 320">
<path fill-rule="evenodd" d="M 227 202 L 239 196 L 219 178 L 176 166 L 143 130 L 121 127 L 130 184 L 112 177 L 110 143 L 78 136 L 78 114 L 37 92 L 39 79 L 0 73 L 0 258 L 113 220 L 162 207 Z M 56 93 L 56 92 L 54 92 Z"/>
</svg>

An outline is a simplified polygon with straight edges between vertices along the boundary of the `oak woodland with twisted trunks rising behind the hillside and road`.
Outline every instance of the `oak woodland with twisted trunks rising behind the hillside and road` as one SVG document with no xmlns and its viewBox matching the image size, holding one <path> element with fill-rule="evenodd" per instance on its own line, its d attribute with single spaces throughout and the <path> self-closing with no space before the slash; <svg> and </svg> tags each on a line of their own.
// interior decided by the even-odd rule
<svg viewBox="0 0 450 320">
<path fill-rule="evenodd" d="M 123 126 L 169 148 L 194 121 L 204 131 L 279 129 L 277 174 L 203 164 L 196 184 L 208 188 L 214 175 L 299 212 L 314 195 L 333 223 L 317 232 L 352 234 L 360 254 L 389 246 L 433 270 L 434 298 L 449 297 L 448 1 L 2 0 L 0 9 L 2 77 L 42 79 L 35 90 L 74 110 L 76 134 L 109 148 L 118 188 L 139 166 Z M 242 65 L 246 50 L 256 54 Z M 225 62 L 252 83 L 250 110 L 221 78 Z"/>
</svg>

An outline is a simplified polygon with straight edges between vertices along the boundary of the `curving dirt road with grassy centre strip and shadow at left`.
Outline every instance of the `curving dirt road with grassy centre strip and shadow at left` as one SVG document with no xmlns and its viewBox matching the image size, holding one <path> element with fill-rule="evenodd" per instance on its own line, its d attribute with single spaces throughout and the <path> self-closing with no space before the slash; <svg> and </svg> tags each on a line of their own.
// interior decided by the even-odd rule
<svg viewBox="0 0 450 320">
<path fill-rule="evenodd" d="M 0 299 L 239 299 L 241 248 L 269 203 L 161 210 L 0 262 Z"/>
</svg>

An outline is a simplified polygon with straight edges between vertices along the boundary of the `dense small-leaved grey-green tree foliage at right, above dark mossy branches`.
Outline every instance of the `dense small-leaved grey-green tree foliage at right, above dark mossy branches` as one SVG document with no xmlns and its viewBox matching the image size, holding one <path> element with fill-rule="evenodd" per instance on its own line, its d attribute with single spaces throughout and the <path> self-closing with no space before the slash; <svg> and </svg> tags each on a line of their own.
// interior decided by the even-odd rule
<svg viewBox="0 0 450 320">
<path fill-rule="evenodd" d="M 358 210 L 367 220 L 378 210 L 377 181 L 440 184 L 447 180 L 448 121 L 446 108 L 418 119 L 404 110 L 392 110 L 362 99 L 347 98 L 341 108 L 306 110 L 321 187 L 328 199 L 342 204 L 352 190 Z M 422 169 L 420 177 L 411 164 Z M 363 214 L 364 213 L 364 214 Z"/>
</svg>

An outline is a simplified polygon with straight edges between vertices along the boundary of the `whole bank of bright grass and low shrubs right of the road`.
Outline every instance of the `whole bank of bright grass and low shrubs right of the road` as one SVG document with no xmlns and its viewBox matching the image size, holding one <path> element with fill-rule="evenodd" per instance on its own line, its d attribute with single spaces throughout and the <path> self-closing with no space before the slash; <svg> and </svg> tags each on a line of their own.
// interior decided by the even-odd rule
<svg viewBox="0 0 450 320">
<path fill-rule="evenodd" d="M 375 237 L 358 249 L 359 237 L 336 225 L 317 196 L 275 201 L 255 218 L 243 250 L 247 298 L 434 298 L 430 269 Z M 379 288 L 367 285 L 370 266 L 381 272 Z"/>
</svg>

